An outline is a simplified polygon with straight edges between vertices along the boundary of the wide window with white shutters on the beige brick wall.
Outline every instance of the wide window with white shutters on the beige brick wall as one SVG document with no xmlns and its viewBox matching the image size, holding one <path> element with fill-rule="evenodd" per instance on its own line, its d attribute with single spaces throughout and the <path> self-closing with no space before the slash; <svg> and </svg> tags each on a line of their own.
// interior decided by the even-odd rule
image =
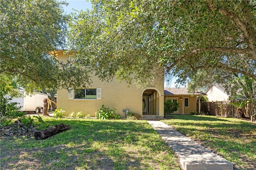
<svg viewBox="0 0 256 170">
<path fill-rule="evenodd" d="M 101 88 L 74 89 L 69 92 L 69 99 L 101 99 Z"/>
</svg>

